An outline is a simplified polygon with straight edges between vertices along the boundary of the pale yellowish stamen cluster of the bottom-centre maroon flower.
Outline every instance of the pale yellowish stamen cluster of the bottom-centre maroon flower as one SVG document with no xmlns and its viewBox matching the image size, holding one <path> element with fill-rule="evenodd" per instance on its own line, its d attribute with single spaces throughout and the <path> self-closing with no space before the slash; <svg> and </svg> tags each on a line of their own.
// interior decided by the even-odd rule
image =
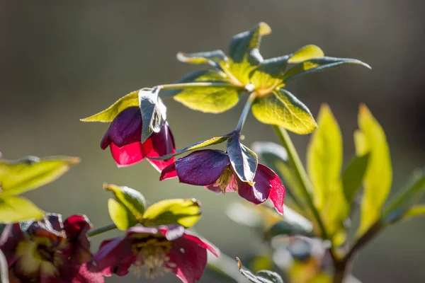
<svg viewBox="0 0 425 283">
<path fill-rule="evenodd" d="M 149 235 L 137 239 L 132 244 L 132 250 L 137 259 L 130 269 L 137 276 L 142 275 L 143 267 L 147 278 L 162 276 L 164 272 L 176 267 L 174 262 L 169 262 L 170 258 L 167 255 L 171 250 L 171 242 L 162 236 Z"/>
</svg>

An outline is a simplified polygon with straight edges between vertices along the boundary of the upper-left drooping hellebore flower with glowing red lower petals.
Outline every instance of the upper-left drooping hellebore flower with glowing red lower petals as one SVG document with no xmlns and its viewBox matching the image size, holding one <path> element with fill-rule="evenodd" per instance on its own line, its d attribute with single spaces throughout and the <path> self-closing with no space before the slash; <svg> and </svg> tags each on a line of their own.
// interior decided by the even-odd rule
<svg viewBox="0 0 425 283">
<path fill-rule="evenodd" d="M 111 148 L 111 154 L 119 167 L 130 166 L 146 157 L 159 157 L 174 154 L 174 137 L 169 125 L 164 123 L 158 133 L 153 133 L 144 143 L 142 137 L 142 115 L 140 108 L 129 107 L 121 111 L 111 122 L 108 131 L 103 136 L 101 148 Z M 148 159 L 149 163 L 162 171 L 163 168 L 173 163 L 169 161 L 155 161 Z"/>
</svg>

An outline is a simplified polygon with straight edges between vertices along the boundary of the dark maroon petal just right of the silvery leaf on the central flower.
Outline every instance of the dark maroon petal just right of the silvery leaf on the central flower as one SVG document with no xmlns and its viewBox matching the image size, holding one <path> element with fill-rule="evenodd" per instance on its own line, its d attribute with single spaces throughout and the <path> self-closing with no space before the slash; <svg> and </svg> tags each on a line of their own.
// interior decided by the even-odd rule
<svg viewBox="0 0 425 283">
<path fill-rule="evenodd" d="M 237 181 L 238 192 L 241 197 L 254 204 L 261 204 L 268 199 L 271 191 L 271 180 L 276 174 L 266 166 L 259 164 L 254 176 L 254 185 Z"/>
</svg>

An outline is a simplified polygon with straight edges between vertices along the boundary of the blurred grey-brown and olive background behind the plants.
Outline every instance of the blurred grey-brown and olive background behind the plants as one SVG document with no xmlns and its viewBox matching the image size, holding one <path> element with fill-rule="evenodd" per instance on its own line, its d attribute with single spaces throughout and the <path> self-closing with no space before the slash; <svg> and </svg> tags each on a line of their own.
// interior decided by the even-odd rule
<svg viewBox="0 0 425 283">
<path fill-rule="evenodd" d="M 288 89 L 314 116 L 321 103 L 329 103 L 344 135 L 346 162 L 354 153 L 358 105 L 368 105 L 387 133 L 392 192 L 397 192 L 409 173 L 425 164 L 424 11 L 425 1 L 399 0 L 0 1 L 0 151 L 9 159 L 81 157 L 81 164 L 59 180 L 26 193 L 49 212 L 84 213 L 95 226 L 109 224 L 111 195 L 102 190 L 103 182 L 133 187 L 150 202 L 196 197 L 203 203 L 196 230 L 231 257 L 250 258 L 261 243 L 225 214 L 239 200 L 236 194 L 215 195 L 177 180 L 160 183 L 147 162 L 118 169 L 99 146 L 108 125 L 79 119 L 130 91 L 171 83 L 194 69 L 177 62 L 176 52 L 227 50 L 232 35 L 265 21 L 273 29 L 261 45 L 265 58 L 313 43 L 329 56 L 353 57 L 373 67 L 348 65 L 302 76 Z M 243 105 L 212 115 L 172 99 L 164 102 L 177 148 L 229 132 Z M 271 127 L 252 115 L 244 134 L 247 145 L 277 141 Z M 309 137 L 293 139 L 305 158 Z M 358 256 L 353 274 L 366 283 L 423 282 L 424 233 L 425 219 L 390 227 Z M 96 236 L 94 247 L 117 234 Z M 205 272 L 203 282 L 222 279 Z"/>
</svg>

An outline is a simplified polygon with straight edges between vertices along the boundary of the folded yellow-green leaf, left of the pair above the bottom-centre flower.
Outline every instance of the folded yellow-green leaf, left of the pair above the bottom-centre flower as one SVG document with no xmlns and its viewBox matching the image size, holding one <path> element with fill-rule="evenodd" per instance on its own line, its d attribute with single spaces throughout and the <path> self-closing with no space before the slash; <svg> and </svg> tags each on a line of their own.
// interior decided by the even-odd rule
<svg viewBox="0 0 425 283">
<path fill-rule="evenodd" d="M 105 190 L 113 192 L 115 199 L 109 199 L 108 211 L 118 229 L 125 231 L 142 221 L 147 207 L 145 197 L 130 187 L 103 184 Z"/>
</svg>

